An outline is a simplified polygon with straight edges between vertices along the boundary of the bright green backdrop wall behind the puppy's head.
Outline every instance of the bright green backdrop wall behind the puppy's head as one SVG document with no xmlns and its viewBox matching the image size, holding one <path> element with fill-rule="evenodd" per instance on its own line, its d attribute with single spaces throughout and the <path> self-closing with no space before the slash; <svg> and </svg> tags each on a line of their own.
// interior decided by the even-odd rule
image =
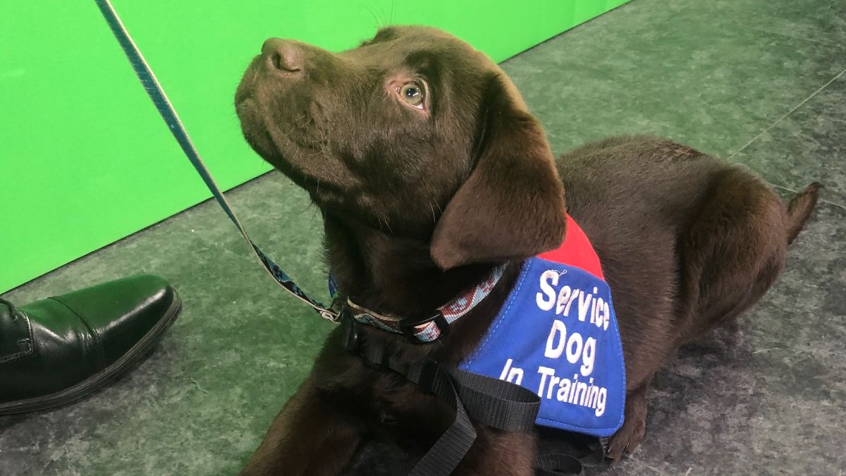
<svg viewBox="0 0 846 476">
<path fill-rule="evenodd" d="M 501 61 L 625 1 L 113 4 L 228 189 L 268 169 L 232 96 L 269 36 L 338 50 L 381 25 L 434 25 Z M 0 7 L 0 107 L 0 292 L 210 196 L 93 1 Z"/>
</svg>

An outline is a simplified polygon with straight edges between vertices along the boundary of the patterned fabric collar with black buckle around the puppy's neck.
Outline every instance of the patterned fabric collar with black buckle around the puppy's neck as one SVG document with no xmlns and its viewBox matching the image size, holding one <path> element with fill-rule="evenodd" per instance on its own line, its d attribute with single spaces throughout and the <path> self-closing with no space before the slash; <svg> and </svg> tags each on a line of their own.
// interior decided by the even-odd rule
<svg viewBox="0 0 846 476">
<path fill-rule="evenodd" d="M 387 330 L 387 332 L 395 334 L 403 334 L 412 342 L 426 344 L 437 340 L 441 335 L 446 335 L 449 331 L 449 324 L 453 324 L 464 314 L 470 313 L 476 305 L 491 294 L 493 287 L 503 277 L 505 268 L 505 265 L 494 268 L 487 280 L 438 307 L 436 313 L 429 318 L 412 320 L 387 316 L 361 307 L 349 299 L 347 299 L 345 311 L 348 311 L 352 318 L 360 324 L 371 325 L 376 329 Z M 337 291 L 338 282 L 330 272 L 329 292 L 332 293 L 332 296 L 337 296 Z"/>
</svg>

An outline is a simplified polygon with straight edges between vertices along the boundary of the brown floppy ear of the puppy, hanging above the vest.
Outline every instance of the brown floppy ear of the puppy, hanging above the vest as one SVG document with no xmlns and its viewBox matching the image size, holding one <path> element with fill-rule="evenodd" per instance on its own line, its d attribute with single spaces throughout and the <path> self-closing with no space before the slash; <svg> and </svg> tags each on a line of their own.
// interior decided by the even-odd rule
<svg viewBox="0 0 846 476">
<path fill-rule="evenodd" d="M 487 88 L 480 154 L 431 238 L 442 269 L 535 256 L 563 241 L 564 191 L 543 129 L 508 93 Z"/>
</svg>

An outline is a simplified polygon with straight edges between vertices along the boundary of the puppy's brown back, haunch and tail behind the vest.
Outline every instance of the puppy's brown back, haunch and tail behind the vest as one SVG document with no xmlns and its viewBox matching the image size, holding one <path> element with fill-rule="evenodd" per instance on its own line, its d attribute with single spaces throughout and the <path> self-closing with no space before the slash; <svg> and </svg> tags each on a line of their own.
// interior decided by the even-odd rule
<svg viewBox="0 0 846 476">
<path fill-rule="evenodd" d="M 626 355 L 631 385 L 655 368 L 641 359 L 663 360 L 761 298 L 819 187 L 786 206 L 746 169 L 650 136 L 587 144 L 560 158 L 558 172 L 570 214 L 623 297 L 621 332 L 638 351 Z"/>
</svg>

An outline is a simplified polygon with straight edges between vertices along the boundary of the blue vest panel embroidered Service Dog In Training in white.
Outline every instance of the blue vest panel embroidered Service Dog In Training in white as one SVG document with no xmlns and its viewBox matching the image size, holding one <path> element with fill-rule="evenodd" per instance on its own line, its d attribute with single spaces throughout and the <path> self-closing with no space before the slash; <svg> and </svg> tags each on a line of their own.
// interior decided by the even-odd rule
<svg viewBox="0 0 846 476">
<path fill-rule="evenodd" d="M 527 260 L 459 367 L 536 392 L 541 426 L 605 437 L 623 424 L 625 365 L 611 291 L 581 268 Z"/>
</svg>

